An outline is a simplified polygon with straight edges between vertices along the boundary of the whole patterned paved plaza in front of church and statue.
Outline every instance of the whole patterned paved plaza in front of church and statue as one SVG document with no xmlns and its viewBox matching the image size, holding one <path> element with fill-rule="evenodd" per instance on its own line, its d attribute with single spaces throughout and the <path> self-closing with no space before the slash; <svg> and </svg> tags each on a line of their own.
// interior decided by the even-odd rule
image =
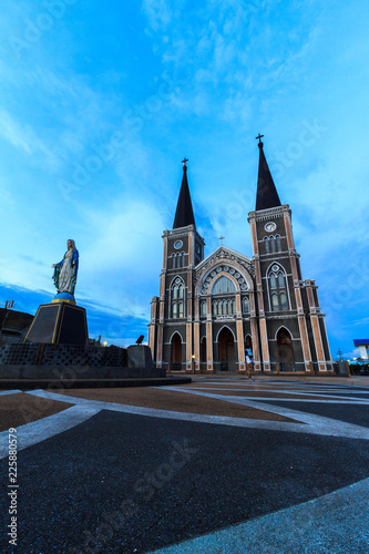
<svg viewBox="0 0 369 554">
<path fill-rule="evenodd" d="M 369 378 L 57 390 L 0 392 L 1 552 L 369 552 Z"/>
</svg>

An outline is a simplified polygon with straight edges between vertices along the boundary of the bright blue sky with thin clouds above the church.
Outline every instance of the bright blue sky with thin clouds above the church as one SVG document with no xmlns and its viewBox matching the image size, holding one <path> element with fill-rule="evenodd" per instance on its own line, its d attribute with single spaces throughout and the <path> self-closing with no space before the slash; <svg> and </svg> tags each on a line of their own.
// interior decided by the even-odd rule
<svg viewBox="0 0 369 554">
<path fill-rule="evenodd" d="M 90 335 L 147 337 L 181 160 L 206 254 L 223 234 L 252 256 L 262 132 L 332 356 L 355 356 L 369 336 L 368 28 L 355 0 L 3 0 L 0 306 L 50 301 L 73 238 Z"/>
</svg>

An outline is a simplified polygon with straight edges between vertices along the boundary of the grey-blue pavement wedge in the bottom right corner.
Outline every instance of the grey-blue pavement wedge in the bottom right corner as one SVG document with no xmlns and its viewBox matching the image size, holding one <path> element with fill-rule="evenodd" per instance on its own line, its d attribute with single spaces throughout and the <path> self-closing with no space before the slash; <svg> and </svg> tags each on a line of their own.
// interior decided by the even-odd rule
<svg viewBox="0 0 369 554">
<path fill-rule="evenodd" d="M 369 479 L 150 554 L 369 552 Z M 328 550 L 329 548 L 329 550 Z"/>
</svg>

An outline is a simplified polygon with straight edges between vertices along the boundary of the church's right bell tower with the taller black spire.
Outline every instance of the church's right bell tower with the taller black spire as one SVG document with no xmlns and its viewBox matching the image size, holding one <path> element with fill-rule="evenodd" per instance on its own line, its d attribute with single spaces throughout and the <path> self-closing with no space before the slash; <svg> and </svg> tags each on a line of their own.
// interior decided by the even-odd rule
<svg viewBox="0 0 369 554">
<path fill-rule="evenodd" d="M 288 204 L 280 203 L 262 137 L 260 134 L 256 137 L 259 141 L 256 206 L 248 214 L 262 367 L 265 371 L 327 371 L 330 352 L 317 287 L 314 284 L 315 293 L 308 293 L 311 281 L 303 281 L 291 211 Z"/>
</svg>

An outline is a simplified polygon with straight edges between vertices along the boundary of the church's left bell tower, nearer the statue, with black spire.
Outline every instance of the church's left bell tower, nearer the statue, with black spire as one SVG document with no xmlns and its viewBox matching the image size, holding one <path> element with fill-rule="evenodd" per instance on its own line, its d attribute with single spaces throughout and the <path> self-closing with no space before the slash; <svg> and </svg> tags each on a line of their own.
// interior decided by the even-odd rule
<svg viewBox="0 0 369 554">
<path fill-rule="evenodd" d="M 194 352 L 194 268 L 204 259 L 204 239 L 196 230 L 196 223 L 187 181 L 187 162 L 184 158 L 183 177 L 174 216 L 173 228 L 163 233 L 163 269 L 160 278 L 160 297 L 152 301 L 150 347 L 156 367 L 165 369 L 168 361 L 191 370 Z M 176 335 L 176 341 L 173 337 Z M 173 352 L 175 345 L 175 352 Z M 181 346 L 178 346 L 181 345 Z"/>
</svg>

